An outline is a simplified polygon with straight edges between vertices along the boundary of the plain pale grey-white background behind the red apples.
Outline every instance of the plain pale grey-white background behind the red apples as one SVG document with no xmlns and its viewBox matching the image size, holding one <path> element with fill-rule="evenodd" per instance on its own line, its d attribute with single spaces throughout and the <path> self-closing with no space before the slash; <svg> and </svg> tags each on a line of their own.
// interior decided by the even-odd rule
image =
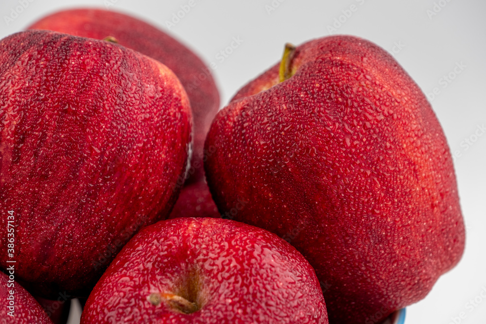
<svg viewBox="0 0 486 324">
<path fill-rule="evenodd" d="M 87 5 L 105 8 L 107 4 L 112 4 L 110 10 L 144 17 L 168 31 L 166 21 L 189 2 L 30 1 L 7 25 L 4 16 L 10 16 L 19 3 L 1 0 L 1 38 L 55 10 Z M 199 53 L 206 63 L 216 63 L 214 75 L 222 106 L 241 86 L 277 63 L 286 42 L 298 45 L 329 35 L 328 26 L 332 27 L 335 19 L 344 21 L 341 26 L 336 23 L 335 34 L 358 35 L 395 51 L 395 58 L 425 93 L 434 87 L 439 89 L 431 102 L 451 151 L 460 154 L 455 159 L 455 170 L 467 225 L 467 246 L 459 265 L 443 275 L 424 300 L 407 307 L 405 323 L 449 324 L 461 312 L 466 317 L 456 318 L 455 324 L 486 323 L 486 298 L 477 297 L 482 287 L 486 290 L 486 135 L 474 135 L 478 125 L 486 124 L 486 1 L 274 0 L 275 8 L 272 0 L 194 1 L 191 11 L 168 32 Z M 347 12 L 353 4 L 356 11 Z M 218 60 L 216 55 L 231 44 L 233 37 L 240 37 L 243 43 L 224 61 Z M 465 68 L 455 74 L 454 67 L 461 62 Z M 449 73 L 454 78 L 450 83 L 441 80 Z M 476 141 L 466 145 L 466 138 Z M 481 301 L 476 306 L 469 302 L 474 298 Z"/>
</svg>

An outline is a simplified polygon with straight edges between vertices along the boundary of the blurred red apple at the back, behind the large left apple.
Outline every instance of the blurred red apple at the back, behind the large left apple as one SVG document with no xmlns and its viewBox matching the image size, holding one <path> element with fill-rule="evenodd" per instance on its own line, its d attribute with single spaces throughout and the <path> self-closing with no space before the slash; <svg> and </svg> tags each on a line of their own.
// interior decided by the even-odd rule
<svg viewBox="0 0 486 324">
<path fill-rule="evenodd" d="M 219 109 L 219 92 L 210 69 L 185 45 L 135 17 L 101 9 L 69 9 L 44 17 L 28 29 L 47 29 L 104 39 L 150 56 L 170 68 L 189 96 L 194 119 L 194 151 L 188 183 L 204 179 L 203 147 L 211 121 Z M 204 80 L 201 80 L 204 79 Z M 179 179 L 179 182 L 184 179 Z"/>
</svg>

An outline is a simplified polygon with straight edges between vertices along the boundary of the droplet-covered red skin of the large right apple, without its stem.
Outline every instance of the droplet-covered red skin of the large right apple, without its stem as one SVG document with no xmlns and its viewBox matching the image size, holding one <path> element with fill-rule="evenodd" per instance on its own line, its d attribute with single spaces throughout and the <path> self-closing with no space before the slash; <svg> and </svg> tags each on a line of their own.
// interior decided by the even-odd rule
<svg viewBox="0 0 486 324">
<path fill-rule="evenodd" d="M 205 164 L 220 211 L 289 240 L 320 280 L 330 323 L 363 324 L 422 299 L 464 250 L 446 138 L 387 52 L 352 36 L 307 42 L 211 125 Z"/>
</svg>

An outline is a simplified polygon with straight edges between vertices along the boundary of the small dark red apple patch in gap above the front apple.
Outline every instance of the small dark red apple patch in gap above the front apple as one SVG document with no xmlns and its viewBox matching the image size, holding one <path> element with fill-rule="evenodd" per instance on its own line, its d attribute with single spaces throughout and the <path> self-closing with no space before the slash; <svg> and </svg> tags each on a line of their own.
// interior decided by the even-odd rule
<svg viewBox="0 0 486 324">
<path fill-rule="evenodd" d="M 205 181 L 189 184 L 182 188 L 168 219 L 180 217 L 221 218 Z"/>
</svg>

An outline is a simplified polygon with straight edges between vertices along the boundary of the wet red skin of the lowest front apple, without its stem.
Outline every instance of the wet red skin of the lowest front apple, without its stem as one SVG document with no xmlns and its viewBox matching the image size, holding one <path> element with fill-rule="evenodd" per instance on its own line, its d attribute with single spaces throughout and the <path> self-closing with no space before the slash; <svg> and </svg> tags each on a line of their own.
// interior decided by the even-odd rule
<svg viewBox="0 0 486 324">
<path fill-rule="evenodd" d="M 152 293 L 181 293 L 197 278 L 196 312 Z M 327 324 L 315 272 L 293 246 L 263 229 L 224 219 L 178 218 L 141 230 L 89 295 L 82 324 Z"/>
</svg>

